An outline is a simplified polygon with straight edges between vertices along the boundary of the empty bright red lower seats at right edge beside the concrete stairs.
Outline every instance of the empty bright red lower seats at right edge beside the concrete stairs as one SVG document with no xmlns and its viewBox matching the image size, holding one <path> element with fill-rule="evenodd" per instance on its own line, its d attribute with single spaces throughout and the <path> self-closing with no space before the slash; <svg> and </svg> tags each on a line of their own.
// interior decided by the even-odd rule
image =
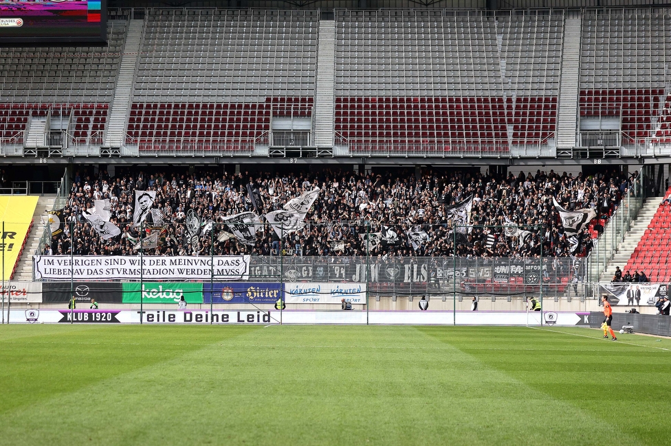
<svg viewBox="0 0 671 446">
<path fill-rule="evenodd" d="M 665 197 L 671 194 L 671 187 Z M 627 262 L 624 271 L 645 271 L 651 282 L 668 282 L 671 280 L 671 268 L 668 263 L 671 255 L 668 242 L 671 237 L 671 205 L 662 203 L 652 218 L 652 222 L 643 234 L 641 241 Z"/>
</svg>

